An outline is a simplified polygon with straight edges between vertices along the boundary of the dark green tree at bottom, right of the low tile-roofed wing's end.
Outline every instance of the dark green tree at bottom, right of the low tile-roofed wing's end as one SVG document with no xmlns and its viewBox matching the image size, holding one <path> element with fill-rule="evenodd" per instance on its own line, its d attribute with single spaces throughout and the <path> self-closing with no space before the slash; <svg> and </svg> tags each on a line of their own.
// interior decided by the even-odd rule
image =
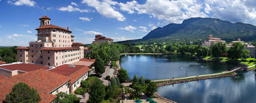
<svg viewBox="0 0 256 103">
<path fill-rule="evenodd" d="M 95 79 L 90 86 L 89 99 L 91 103 L 100 103 L 106 94 L 105 86 L 101 83 L 100 79 Z"/>
</svg>

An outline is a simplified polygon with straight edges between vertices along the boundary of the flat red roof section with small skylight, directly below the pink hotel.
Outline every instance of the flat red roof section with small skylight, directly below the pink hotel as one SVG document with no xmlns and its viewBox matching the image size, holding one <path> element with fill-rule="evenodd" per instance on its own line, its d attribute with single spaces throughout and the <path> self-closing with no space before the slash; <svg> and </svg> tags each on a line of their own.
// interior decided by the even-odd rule
<svg viewBox="0 0 256 103">
<path fill-rule="evenodd" d="M 80 68 L 84 67 L 84 65 L 76 65 L 75 67 L 68 67 L 68 64 L 60 65 L 55 67 L 54 69 L 51 69 L 49 71 L 51 72 L 57 72 L 59 74 L 63 75 L 69 75 L 74 73 L 75 71 L 79 70 Z"/>
</svg>

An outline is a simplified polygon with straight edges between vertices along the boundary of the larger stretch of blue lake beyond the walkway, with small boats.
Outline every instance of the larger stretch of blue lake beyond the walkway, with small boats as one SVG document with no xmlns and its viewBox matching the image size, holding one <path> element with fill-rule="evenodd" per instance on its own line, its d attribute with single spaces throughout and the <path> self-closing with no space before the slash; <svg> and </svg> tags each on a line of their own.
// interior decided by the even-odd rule
<svg viewBox="0 0 256 103">
<path fill-rule="evenodd" d="M 143 74 L 145 79 L 170 79 L 172 76 L 185 77 L 201 74 L 212 74 L 230 70 L 240 64 L 228 64 L 206 60 L 197 60 L 188 55 L 121 55 L 121 68 L 127 70 L 132 79 L 136 73 L 140 78 Z M 204 67 L 200 67 L 204 66 Z M 182 69 L 179 69 L 181 67 Z"/>
</svg>

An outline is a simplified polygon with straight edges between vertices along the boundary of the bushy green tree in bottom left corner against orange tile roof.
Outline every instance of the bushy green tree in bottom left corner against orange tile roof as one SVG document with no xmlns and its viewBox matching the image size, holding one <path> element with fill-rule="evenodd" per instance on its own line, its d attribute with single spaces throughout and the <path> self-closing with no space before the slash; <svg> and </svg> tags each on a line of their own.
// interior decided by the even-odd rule
<svg viewBox="0 0 256 103">
<path fill-rule="evenodd" d="M 5 97 L 6 103 L 39 103 L 41 101 L 37 90 L 22 82 L 15 84 L 12 91 Z"/>
</svg>

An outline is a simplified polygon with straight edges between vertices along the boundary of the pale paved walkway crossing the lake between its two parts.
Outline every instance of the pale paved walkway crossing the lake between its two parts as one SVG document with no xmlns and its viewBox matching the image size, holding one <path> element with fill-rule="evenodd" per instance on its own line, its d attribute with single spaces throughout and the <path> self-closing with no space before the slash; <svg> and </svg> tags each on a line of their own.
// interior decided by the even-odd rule
<svg viewBox="0 0 256 103">
<path fill-rule="evenodd" d="M 229 73 L 229 72 L 234 72 L 236 70 L 238 70 L 239 68 L 236 68 L 234 70 L 228 71 L 228 72 L 221 72 L 221 73 L 215 73 L 215 74 L 205 74 L 205 75 L 199 75 L 199 76 L 190 76 L 190 77 L 182 77 L 182 78 L 174 78 L 174 79 L 160 79 L 160 80 L 151 80 L 154 82 L 158 82 L 158 81 L 168 81 L 168 80 L 180 80 L 180 79 L 189 79 L 189 78 L 196 78 L 196 77 L 205 77 L 205 76 L 213 76 L 213 75 L 221 75 L 221 74 L 225 74 L 225 73 Z"/>
</svg>

